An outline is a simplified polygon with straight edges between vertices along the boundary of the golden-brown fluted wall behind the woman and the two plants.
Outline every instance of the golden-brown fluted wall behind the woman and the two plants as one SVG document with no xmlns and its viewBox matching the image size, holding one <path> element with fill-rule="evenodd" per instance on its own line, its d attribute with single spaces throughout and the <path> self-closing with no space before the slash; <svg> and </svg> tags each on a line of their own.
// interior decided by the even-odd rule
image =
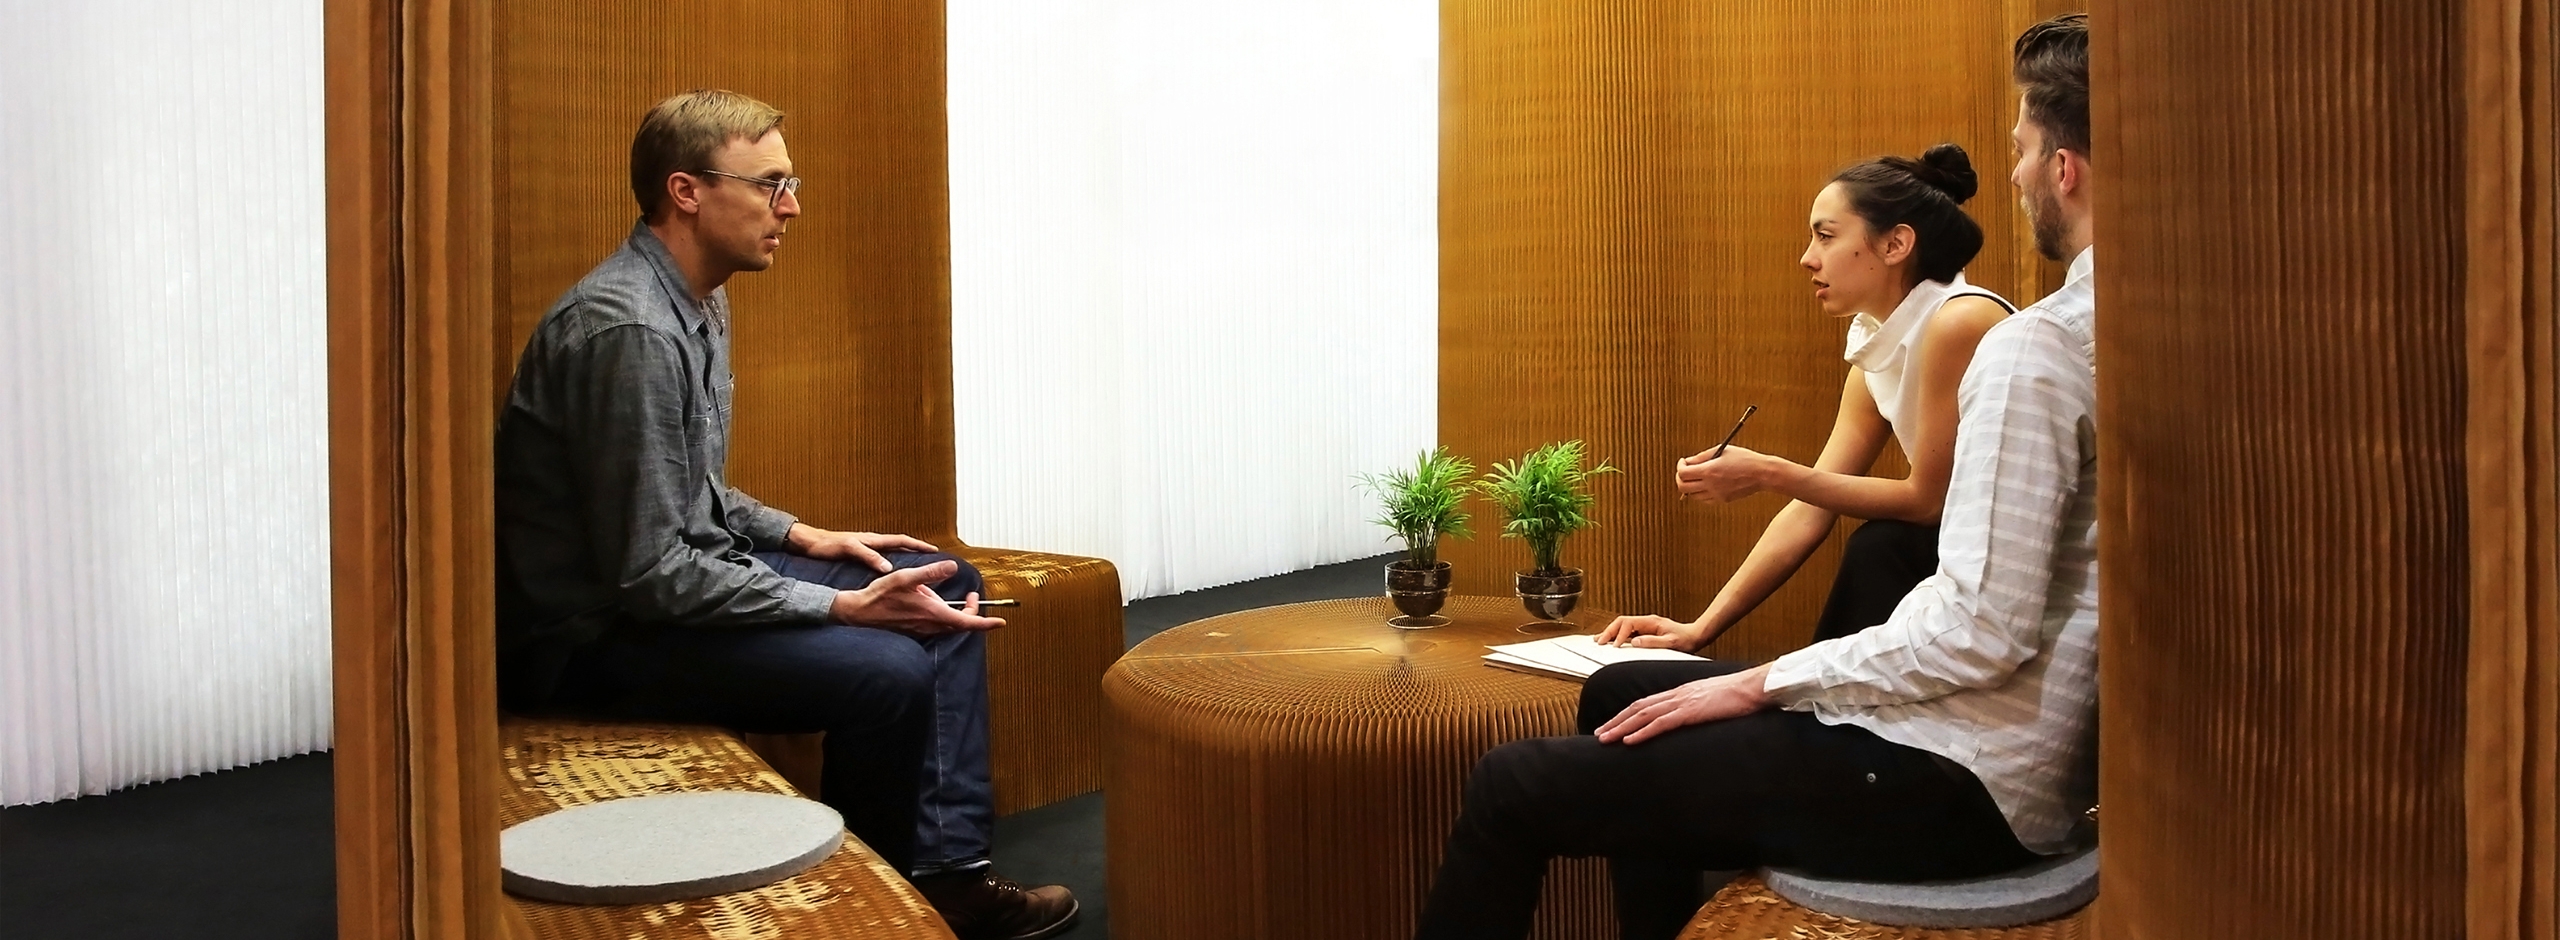
<svg viewBox="0 0 2560 940">
<path fill-rule="evenodd" d="M 1441 5 L 1441 441 L 1477 464 L 1562 438 L 1628 469 L 1564 563 L 1597 604 L 1692 617 L 1784 505 L 1677 502 L 1672 466 L 1743 405 L 1743 446 L 1810 464 L 1830 433 L 1846 325 L 1797 256 L 1830 174 L 1956 141 L 1987 233 L 1971 279 L 2053 287 L 2004 182 L 2007 49 L 2053 3 Z M 1518 540 L 1452 543 L 1459 589 L 1508 594 Z M 1825 546 L 1718 656 L 1802 645 Z"/>
</svg>

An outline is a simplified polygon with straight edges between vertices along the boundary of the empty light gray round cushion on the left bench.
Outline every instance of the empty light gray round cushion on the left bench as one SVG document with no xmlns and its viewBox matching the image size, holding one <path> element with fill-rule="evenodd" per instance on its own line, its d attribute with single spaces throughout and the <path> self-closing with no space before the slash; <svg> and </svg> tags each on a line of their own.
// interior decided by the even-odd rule
<svg viewBox="0 0 2560 940">
<path fill-rule="evenodd" d="M 499 832 L 499 879 L 543 902 L 684 902 L 796 876 L 842 840 L 845 817 L 799 797 L 627 797 L 509 825 Z"/>
</svg>

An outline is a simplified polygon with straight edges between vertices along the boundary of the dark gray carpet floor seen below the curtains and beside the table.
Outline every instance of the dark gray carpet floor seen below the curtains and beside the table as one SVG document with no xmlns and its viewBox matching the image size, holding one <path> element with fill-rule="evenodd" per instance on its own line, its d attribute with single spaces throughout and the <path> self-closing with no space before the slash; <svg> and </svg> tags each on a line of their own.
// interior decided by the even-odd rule
<svg viewBox="0 0 2560 940">
<path fill-rule="evenodd" d="M 1390 558 L 1129 604 L 1129 645 L 1224 612 L 1380 589 Z M 0 937 L 302 940 L 335 935 L 328 753 L 0 809 Z M 1111 935 L 1103 794 L 996 820 L 996 868 L 1065 884 L 1070 940 Z"/>
</svg>

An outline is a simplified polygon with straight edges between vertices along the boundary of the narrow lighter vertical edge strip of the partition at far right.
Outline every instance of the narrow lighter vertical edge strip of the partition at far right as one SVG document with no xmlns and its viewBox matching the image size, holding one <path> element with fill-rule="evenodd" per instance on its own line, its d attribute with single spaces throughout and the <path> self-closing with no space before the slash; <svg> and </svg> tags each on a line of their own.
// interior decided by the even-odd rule
<svg viewBox="0 0 2560 940">
<path fill-rule="evenodd" d="M 2460 105 L 2468 251 L 2470 674 L 2465 927 L 2560 937 L 2560 341 L 2555 341 L 2555 18 L 2470 0 Z"/>
</svg>

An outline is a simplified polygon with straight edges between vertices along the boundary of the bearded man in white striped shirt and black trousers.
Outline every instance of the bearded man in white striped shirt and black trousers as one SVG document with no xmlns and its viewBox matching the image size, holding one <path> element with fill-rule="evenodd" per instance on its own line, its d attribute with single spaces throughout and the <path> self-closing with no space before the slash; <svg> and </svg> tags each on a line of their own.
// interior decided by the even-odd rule
<svg viewBox="0 0 2560 940">
<path fill-rule="evenodd" d="M 1418 937 L 1526 937 L 1546 861 L 1608 855 L 1626 937 L 1672 937 L 1700 871 L 1984 876 L 2081 848 L 2097 791 L 2097 371 L 2089 31 L 2015 46 L 2010 182 L 2051 297 L 1984 333 L 1958 392 L 1938 574 L 1892 617 L 1772 663 L 1626 663 L 1585 735 L 1467 779 Z M 1610 643 L 1669 645 L 1633 620 Z"/>
</svg>

